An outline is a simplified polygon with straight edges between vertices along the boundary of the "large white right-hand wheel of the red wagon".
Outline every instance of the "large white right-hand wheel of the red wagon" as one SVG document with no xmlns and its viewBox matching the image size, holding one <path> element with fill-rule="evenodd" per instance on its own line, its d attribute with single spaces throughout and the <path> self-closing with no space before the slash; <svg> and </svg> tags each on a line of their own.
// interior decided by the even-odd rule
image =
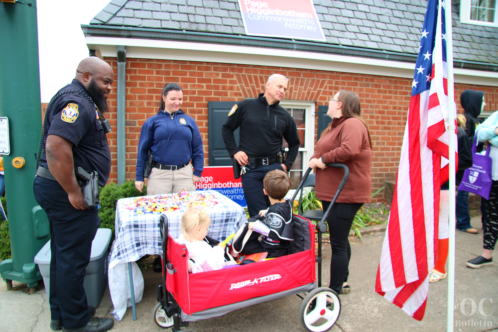
<svg viewBox="0 0 498 332">
<path fill-rule="evenodd" d="M 307 331 L 329 330 L 339 318 L 341 301 L 336 292 L 327 287 L 312 290 L 299 307 L 299 320 Z"/>
</svg>

